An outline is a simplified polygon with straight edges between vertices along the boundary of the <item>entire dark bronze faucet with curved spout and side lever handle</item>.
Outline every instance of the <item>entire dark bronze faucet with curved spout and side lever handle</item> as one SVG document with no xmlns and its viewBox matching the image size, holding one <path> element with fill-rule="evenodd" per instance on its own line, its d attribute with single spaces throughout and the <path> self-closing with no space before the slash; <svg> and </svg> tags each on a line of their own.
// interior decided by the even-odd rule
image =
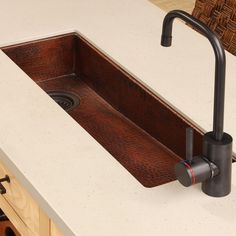
<svg viewBox="0 0 236 236">
<path fill-rule="evenodd" d="M 217 36 L 201 21 L 181 11 L 170 11 L 164 18 L 161 45 L 170 47 L 175 18 L 191 25 L 210 41 L 215 53 L 213 131 L 203 136 L 203 153 L 193 157 L 193 129 L 186 129 L 186 160 L 176 164 L 177 179 L 188 187 L 202 183 L 204 193 L 223 197 L 231 191 L 232 137 L 224 133 L 225 51 Z"/>
</svg>

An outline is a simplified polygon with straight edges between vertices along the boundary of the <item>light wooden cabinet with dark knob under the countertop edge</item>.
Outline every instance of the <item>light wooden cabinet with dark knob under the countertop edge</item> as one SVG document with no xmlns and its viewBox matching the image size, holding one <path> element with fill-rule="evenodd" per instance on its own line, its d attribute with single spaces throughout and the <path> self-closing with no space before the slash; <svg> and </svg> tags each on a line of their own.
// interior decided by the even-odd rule
<svg viewBox="0 0 236 236">
<path fill-rule="evenodd" d="M 63 236 L 58 227 L 51 222 L 37 202 L 0 161 L 0 178 L 5 177 L 5 175 L 10 177 L 10 183 L 2 183 L 6 193 L 0 195 L 0 208 L 20 235 Z"/>
</svg>

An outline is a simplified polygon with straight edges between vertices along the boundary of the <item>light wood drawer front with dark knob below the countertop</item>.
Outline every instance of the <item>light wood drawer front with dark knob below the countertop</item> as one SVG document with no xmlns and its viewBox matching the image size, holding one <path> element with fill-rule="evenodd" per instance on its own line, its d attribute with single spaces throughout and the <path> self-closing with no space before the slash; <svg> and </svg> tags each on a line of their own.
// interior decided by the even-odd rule
<svg viewBox="0 0 236 236">
<path fill-rule="evenodd" d="M 32 231 L 33 235 L 39 234 L 40 209 L 28 192 L 19 184 L 15 176 L 0 162 L 0 178 L 8 175 L 10 183 L 3 182 L 6 193 L 4 199 L 14 209 L 25 225 Z"/>
</svg>

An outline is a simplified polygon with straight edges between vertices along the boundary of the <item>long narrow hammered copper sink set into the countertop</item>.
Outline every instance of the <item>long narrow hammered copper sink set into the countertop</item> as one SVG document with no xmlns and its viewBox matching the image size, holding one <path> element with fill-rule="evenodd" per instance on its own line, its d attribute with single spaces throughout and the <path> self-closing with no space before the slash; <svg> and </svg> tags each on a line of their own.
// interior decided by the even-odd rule
<svg viewBox="0 0 236 236">
<path fill-rule="evenodd" d="M 88 41 L 71 33 L 2 50 L 141 184 L 175 180 L 193 125 Z M 196 128 L 194 139 L 197 154 Z"/>
</svg>

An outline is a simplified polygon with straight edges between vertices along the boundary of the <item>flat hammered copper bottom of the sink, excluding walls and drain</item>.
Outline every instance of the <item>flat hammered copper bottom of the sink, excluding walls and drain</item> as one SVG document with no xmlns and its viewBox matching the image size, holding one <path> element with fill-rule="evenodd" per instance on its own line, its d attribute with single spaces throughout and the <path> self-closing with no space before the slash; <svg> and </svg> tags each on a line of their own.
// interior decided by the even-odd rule
<svg viewBox="0 0 236 236">
<path fill-rule="evenodd" d="M 146 187 L 174 179 L 179 157 L 115 110 L 76 75 L 38 82 L 46 92 L 74 94 L 79 104 L 68 113 Z"/>
</svg>

